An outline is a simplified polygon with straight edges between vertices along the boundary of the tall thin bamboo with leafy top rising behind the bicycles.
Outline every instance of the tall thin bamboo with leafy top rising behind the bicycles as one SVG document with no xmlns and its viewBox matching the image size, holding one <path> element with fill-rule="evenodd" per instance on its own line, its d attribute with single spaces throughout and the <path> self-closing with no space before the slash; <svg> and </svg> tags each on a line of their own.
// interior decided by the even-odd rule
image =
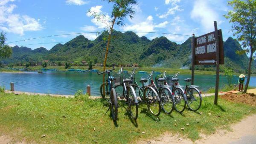
<svg viewBox="0 0 256 144">
<path fill-rule="evenodd" d="M 105 23 L 106 27 L 105 30 L 108 31 L 108 43 L 105 53 L 103 71 L 106 70 L 106 62 L 108 58 L 108 48 L 111 41 L 111 34 L 113 32 L 113 27 L 116 24 L 117 26 L 124 26 L 123 23 L 124 18 L 129 16 L 133 18 L 135 11 L 133 10 L 132 6 L 137 4 L 137 0 L 105 0 L 108 3 L 113 3 L 113 9 L 111 12 L 111 18 L 109 19 L 105 14 L 92 12 L 88 10 L 87 13 L 91 14 L 92 17 L 97 19 L 98 21 Z M 103 83 L 105 82 L 105 75 L 103 75 Z M 105 87 L 103 87 L 103 93 L 105 95 Z"/>
</svg>

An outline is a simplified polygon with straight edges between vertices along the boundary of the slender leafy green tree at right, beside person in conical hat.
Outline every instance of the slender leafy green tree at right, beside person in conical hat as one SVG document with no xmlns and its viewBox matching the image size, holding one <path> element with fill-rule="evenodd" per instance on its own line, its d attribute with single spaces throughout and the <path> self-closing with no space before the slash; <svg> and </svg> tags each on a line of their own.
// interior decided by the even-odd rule
<svg viewBox="0 0 256 144">
<path fill-rule="evenodd" d="M 231 31 L 234 32 L 233 35 L 241 42 L 244 49 L 237 53 L 250 54 L 248 76 L 244 87 L 244 93 L 246 93 L 250 82 L 253 53 L 256 50 L 256 0 L 232 0 L 228 2 L 228 5 L 233 7 L 233 10 L 224 17 L 232 23 Z"/>
</svg>

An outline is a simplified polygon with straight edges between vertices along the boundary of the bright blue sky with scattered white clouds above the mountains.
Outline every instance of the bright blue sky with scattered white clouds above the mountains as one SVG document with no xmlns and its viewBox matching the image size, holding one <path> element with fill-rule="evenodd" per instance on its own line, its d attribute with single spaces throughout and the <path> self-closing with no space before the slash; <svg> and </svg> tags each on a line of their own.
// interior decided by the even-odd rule
<svg viewBox="0 0 256 144">
<path fill-rule="evenodd" d="M 222 29 L 223 40 L 233 37 L 232 25 L 223 17 L 231 10 L 227 0 L 137 0 L 137 3 L 132 6 L 136 12 L 134 18 L 125 18 L 125 26 L 115 25 L 114 29 L 200 36 L 214 31 L 213 21 L 216 20 L 218 29 Z M 49 35 L 102 32 L 109 25 L 112 8 L 113 4 L 104 0 L 0 0 L 0 31 L 6 33 L 6 43 L 10 46 L 51 49 L 78 34 L 10 42 Z M 91 17 L 93 13 L 104 14 L 106 18 L 97 20 Z M 82 35 L 89 40 L 98 36 L 96 33 Z M 137 35 L 150 40 L 165 36 L 179 44 L 189 38 L 151 33 Z"/>
</svg>

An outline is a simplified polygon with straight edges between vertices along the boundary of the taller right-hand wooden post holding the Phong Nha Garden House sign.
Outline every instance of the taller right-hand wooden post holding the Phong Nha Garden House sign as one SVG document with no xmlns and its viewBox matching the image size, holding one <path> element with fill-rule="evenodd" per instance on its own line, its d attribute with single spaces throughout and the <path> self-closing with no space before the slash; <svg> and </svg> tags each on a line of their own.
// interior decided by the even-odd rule
<svg viewBox="0 0 256 144">
<path fill-rule="evenodd" d="M 214 104 L 218 104 L 218 87 L 219 87 L 219 64 L 220 64 L 220 55 L 219 55 L 219 40 L 218 40 L 218 28 L 217 22 L 214 21 L 214 29 L 215 29 L 215 43 L 216 43 L 216 84 L 215 84 L 215 98 Z"/>
</svg>

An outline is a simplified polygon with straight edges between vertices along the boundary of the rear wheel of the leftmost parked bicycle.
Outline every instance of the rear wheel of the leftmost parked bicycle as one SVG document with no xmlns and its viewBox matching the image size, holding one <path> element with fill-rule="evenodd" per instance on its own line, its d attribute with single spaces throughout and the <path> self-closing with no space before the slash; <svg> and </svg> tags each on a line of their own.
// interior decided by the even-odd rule
<svg viewBox="0 0 256 144">
<path fill-rule="evenodd" d="M 118 112 L 118 103 L 117 103 L 117 97 L 116 97 L 116 90 L 114 88 L 111 89 L 110 98 L 111 98 L 110 109 L 111 109 L 112 119 L 113 121 L 116 121 L 117 112 Z"/>
</svg>

